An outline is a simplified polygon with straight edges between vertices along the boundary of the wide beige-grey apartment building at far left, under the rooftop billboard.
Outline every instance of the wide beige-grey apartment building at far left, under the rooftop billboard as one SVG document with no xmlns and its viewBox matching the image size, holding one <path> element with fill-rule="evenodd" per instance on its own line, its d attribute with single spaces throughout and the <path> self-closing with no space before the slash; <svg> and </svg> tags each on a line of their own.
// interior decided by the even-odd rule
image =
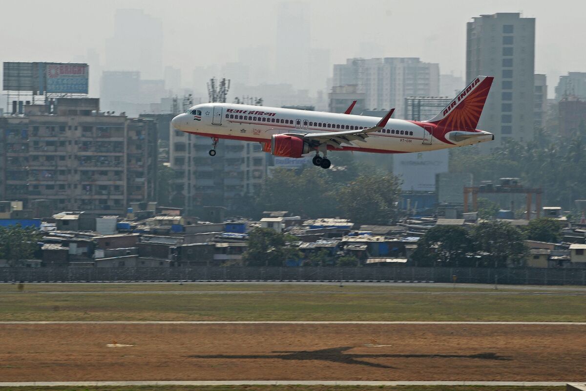
<svg viewBox="0 0 586 391">
<path fill-rule="evenodd" d="M 57 98 L 0 117 L 0 196 L 53 200 L 60 210 L 125 213 L 154 200 L 157 135 L 152 120 L 100 113 L 97 98 Z"/>
</svg>

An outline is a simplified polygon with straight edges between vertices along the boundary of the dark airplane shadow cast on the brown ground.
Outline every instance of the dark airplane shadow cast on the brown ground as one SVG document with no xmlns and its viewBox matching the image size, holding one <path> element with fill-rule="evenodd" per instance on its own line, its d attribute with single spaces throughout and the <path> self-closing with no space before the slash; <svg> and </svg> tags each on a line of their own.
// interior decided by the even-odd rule
<svg viewBox="0 0 586 391">
<path fill-rule="evenodd" d="M 340 346 L 339 348 L 319 349 L 316 351 L 273 351 L 272 353 L 281 353 L 280 355 L 190 355 L 189 358 L 221 358 L 221 359 L 280 359 L 280 360 L 298 360 L 298 361 L 329 361 L 343 364 L 364 365 L 373 368 L 396 369 L 393 366 L 377 364 L 359 359 L 364 358 L 468 358 L 495 361 L 510 361 L 510 358 L 499 356 L 496 353 L 478 353 L 471 355 L 459 354 L 355 354 L 346 353 L 355 346 Z"/>
</svg>

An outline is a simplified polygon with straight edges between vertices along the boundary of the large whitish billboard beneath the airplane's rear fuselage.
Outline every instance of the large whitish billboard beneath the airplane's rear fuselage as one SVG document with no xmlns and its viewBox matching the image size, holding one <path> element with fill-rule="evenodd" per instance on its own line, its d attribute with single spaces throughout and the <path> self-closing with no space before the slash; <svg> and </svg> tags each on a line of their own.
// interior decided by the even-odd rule
<svg viewBox="0 0 586 391">
<path fill-rule="evenodd" d="M 394 155 L 393 174 L 403 180 L 402 191 L 435 192 L 441 172 L 448 172 L 448 149 Z"/>
</svg>

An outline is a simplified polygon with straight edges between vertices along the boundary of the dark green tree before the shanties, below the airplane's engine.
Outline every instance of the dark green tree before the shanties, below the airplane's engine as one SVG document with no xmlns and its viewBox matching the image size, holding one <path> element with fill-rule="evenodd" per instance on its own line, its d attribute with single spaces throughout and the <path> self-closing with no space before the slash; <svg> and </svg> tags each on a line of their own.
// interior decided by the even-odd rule
<svg viewBox="0 0 586 391">
<path fill-rule="evenodd" d="M 248 249 L 242 259 L 247 266 L 282 266 L 299 259 L 299 250 L 286 246 L 286 237 L 270 228 L 256 228 L 248 234 Z"/>
</svg>

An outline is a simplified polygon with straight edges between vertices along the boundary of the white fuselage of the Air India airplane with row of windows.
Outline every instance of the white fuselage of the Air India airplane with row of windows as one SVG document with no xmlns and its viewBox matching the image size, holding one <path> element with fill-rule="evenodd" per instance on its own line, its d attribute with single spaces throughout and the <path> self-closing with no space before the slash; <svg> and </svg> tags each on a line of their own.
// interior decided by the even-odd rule
<svg viewBox="0 0 586 391">
<path fill-rule="evenodd" d="M 201 111 L 200 115 L 197 115 Z M 196 114 L 192 114 L 196 113 Z M 380 118 L 229 103 L 205 103 L 173 118 L 177 130 L 232 140 L 270 142 L 281 133 L 316 133 L 374 127 Z M 364 142 L 353 142 L 337 150 L 377 153 L 433 151 L 471 142 L 444 142 L 433 137 L 431 125 L 390 119 L 383 130 L 369 133 Z M 486 133 L 492 137 L 492 134 Z M 475 140 L 488 141 L 487 140 Z M 335 148 L 332 148 L 336 150 Z"/>
</svg>

